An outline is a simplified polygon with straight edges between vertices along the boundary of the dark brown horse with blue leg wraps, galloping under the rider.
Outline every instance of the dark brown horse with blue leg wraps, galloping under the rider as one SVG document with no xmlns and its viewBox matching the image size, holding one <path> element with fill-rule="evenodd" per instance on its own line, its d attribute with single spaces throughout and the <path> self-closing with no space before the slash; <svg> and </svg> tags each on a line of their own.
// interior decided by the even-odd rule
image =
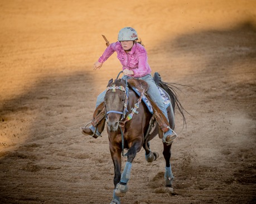
<svg viewBox="0 0 256 204">
<path fill-rule="evenodd" d="M 143 96 L 147 84 L 144 84 L 144 81 L 136 79 L 133 79 L 131 83 L 134 83 L 134 81 L 137 81 L 141 85 L 141 96 Z M 162 82 L 158 73 L 154 74 L 154 81 L 157 86 L 164 90 L 171 101 L 171 106 L 168 106 L 167 112 L 170 127 L 173 130 L 175 127 L 173 110 L 175 110 L 175 108 L 181 112 L 183 120 L 186 122 L 183 115 L 183 108 L 173 88 L 170 87 L 169 83 Z M 115 189 L 113 192 L 113 200 L 110 204 L 120 204 L 120 197 L 123 197 L 128 191 L 127 183 L 131 176 L 132 162 L 142 147 L 146 152 L 145 157 L 148 162 L 152 162 L 158 157 L 157 152 L 150 150 L 148 141 L 152 140 L 161 129 L 154 128 L 154 126 L 151 130 L 154 124 L 152 113 L 150 113 L 147 106 L 141 102 L 142 98 L 131 88 L 127 88 L 127 84 L 129 84 L 129 81 L 127 83 L 124 79 L 116 79 L 114 82 L 113 79 L 111 79 L 108 83 L 104 98 L 109 148 L 114 163 Z M 136 86 L 136 84 L 133 84 L 133 86 Z M 151 133 L 148 134 L 148 132 Z M 128 150 L 125 154 L 125 156 L 127 156 L 127 162 L 121 174 L 121 156 L 124 149 Z M 173 180 L 170 164 L 171 145 L 167 146 L 166 143 L 163 143 L 163 156 L 166 161 L 165 185 L 171 188 Z"/>
</svg>

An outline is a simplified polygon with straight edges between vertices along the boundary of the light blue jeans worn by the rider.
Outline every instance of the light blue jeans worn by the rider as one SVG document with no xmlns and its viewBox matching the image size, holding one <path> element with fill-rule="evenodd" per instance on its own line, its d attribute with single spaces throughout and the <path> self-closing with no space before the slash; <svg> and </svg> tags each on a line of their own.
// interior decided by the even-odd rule
<svg viewBox="0 0 256 204">
<path fill-rule="evenodd" d="M 125 75 L 122 78 L 125 80 L 126 77 L 132 78 L 132 77 L 128 77 Z M 136 78 L 136 77 L 133 77 L 133 78 Z M 154 83 L 154 80 L 153 80 L 153 77 L 151 76 L 151 74 L 147 74 L 144 77 L 140 77 L 140 78 L 136 78 L 136 79 L 142 79 L 143 81 L 146 81 L 148 83 L 147 94 L 150 96 L 152 101 L 154 101 L 156 103 L 158 108 L 160 108 L 160 110 L 163 112 L 163 115 L 165 115 L 165 117 L 167 118 L 167 120 L 169 122 L 166 107 L 165 107 L 165 102 L 163 101 L 163 99 L 158 91 L 158 88 L 156 86 L 156 83 Z M 96 101 L 96 107 L 98 107 L 100 105 L 100 103 L 102 103 L 104 101 L 105 94 L 106 94 L 106 91 L 103 91 L 102 93 L 99 94 L 97 101 Z M 170 135 L 172 133 L 172 131 L 171 132 L 170 131 L 171 130 L 166 132 L 167 135 Z"/>
</svg>

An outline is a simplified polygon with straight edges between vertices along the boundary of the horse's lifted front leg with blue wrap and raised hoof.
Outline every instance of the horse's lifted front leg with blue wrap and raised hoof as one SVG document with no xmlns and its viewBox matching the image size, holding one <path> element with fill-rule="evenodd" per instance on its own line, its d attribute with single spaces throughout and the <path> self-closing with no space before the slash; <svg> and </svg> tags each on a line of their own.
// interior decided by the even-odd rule
<svg viewBox="0 0 256 204">
<path fill-rule="evenodd" d="M 121 175 L 120 182 L 115 187 L 115 195 L 119 197 L 125 196 L 128 191 L 128 181 L 131 177 L 132 161 L 136 157 L 137 152 L 141 150 L 142 140 L 137 140 L 132 143 L 131 148 L 127 151 L 127 162 L 125 163 L 124 171 Z"/>
</svg>

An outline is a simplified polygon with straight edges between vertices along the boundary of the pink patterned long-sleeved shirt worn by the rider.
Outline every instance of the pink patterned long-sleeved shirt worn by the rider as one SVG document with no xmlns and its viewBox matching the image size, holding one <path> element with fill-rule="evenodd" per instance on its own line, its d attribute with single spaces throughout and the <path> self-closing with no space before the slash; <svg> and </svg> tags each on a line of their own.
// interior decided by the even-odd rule
<svg viewBox="0 0 256 204">
<path fill-rule="evenodd" d="M 130 69 L 134 72 L 131 77 L 143 77 L 151 73 L 147 51 L 141 44 L 134 43 L 131 51 L 125 53 L 119 41 L 111 43 L 99 58 L 99 62 L 105 62 L 114 52 L 117 52 L 117 58 L 123 65 L 123 70 Z"/>
</svg>

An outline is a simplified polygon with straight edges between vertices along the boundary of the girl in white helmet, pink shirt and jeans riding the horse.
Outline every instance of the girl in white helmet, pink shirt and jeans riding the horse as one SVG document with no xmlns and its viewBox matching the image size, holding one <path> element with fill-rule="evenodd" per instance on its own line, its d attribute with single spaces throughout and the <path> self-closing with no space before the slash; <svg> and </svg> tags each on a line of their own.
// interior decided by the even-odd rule
<svg viewBox="0 0 256 204">
<path fill-rule="evenodd" d="M 100 69 L 103 63 L 114 53 L 117 52 L 117 58 L 123 66 L 123 78 L 135 78 L 142 79 L 146 81 L 149 85 L 147 94 L 156 103 L 157 107 L 160 109 L 160 115 L 162 118 L 165 118 L 165 121 L 168 121 L 167 111 L 165 103 L 158 91 L 156 83 L 154 83 L 151 76 L 151 68 L 148 64 L 147 52 L 144 46 L 137 42 L 138 36 L 137 32 L 131 27 L 125 27 L 119 31 L 118 41 L 111 43 L 107 49 L 105 49 L 102 56 L 94 63 L 94 70 Z M 103 91 L 99 94 L 96 101 L 96 110 L 99 105 L 104 102 L 104 96 L 106 91 Z M 162 112 L 162 113 L 161 113 Z M 167 119 L 167 120 L 166 120 Z M 171 130 L 167 124 L 167 128 L 163 130 L 163 142 L 166 142 L 167 145 L 170 145 L 173 140 L 177 137 L 175 132 Z M 91 123 L 90 127 L 80 128 L 81 132 L 84 135 L 93 135 L 95 132 L 95 123 Z M 96 130 L 96 136 L 100 136 L 100 131 Z"/>
</svg>

